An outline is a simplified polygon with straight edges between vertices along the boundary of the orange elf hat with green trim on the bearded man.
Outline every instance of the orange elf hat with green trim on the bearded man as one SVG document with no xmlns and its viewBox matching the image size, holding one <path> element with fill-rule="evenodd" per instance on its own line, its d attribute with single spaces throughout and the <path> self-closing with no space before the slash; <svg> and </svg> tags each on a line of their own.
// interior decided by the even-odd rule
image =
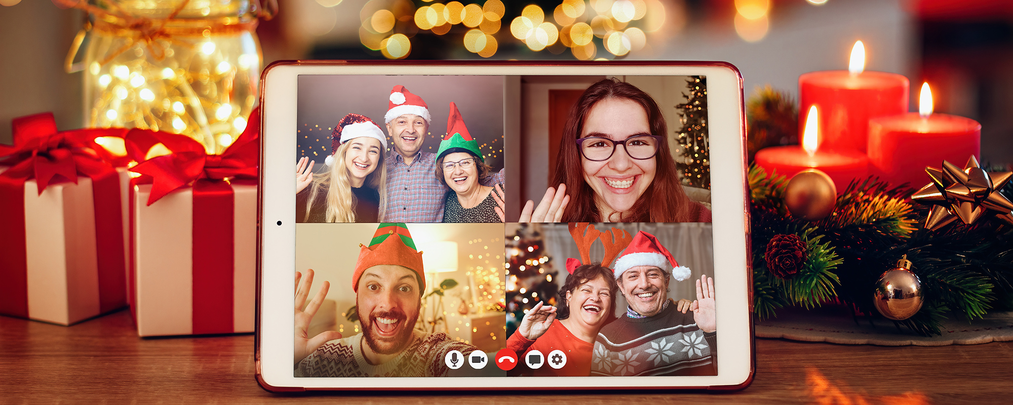
<svg viewBox="0 0 1013 405">
<path fill-rule="evenodd" d="M 405 224 L 380 224 L 373 234 L 370 245 L 360 244 L 359 260 L 352 274 L 352 290 L 359 292 L 359 278 L 366 269 L 381 264 L 404 266 L 416 274 L 425 285 L 425 270 L 422 269 L 422 252 L 416 251 L 408 226 Z"/>
</svg>

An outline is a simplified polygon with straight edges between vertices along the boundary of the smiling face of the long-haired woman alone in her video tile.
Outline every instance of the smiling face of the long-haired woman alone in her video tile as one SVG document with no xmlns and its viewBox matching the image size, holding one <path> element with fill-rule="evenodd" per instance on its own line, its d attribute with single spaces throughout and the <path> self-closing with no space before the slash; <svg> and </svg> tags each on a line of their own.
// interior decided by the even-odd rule
<svg viewBox="0 0 1013 405">
<path fill-rule="evenodd" d="M 640 104 L 624 98 L 607 98 L 588 111 L 580 138 L 602 137 L 624 141 L 636 135 L 651 135 L 647 112 Z M 626 148 L 616 146 L 612 157 L 596 162 L 580 157 L 583 180 L 595 190 L 602 221 L 612 213 L 629 211 L 654 179 L 656 157 L 633 159 Z"/>
</svg>

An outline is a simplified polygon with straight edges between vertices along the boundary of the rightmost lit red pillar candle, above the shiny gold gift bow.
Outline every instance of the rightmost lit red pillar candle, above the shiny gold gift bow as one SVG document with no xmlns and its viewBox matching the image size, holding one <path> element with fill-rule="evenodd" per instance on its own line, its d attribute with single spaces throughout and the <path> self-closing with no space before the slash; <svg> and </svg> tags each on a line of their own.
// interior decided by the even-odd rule
<svg viewBox="0 0 1013 405">
<path fill-rule="evenodd" d="M 922 85 L 920 112 L 869 120 L 869 172 L 893 185 L 919 188 L 932 181 L 926 166 L 981 158 L 982 125 L 963 116 L 932 113 L 932 93 Z"/>
</svg>

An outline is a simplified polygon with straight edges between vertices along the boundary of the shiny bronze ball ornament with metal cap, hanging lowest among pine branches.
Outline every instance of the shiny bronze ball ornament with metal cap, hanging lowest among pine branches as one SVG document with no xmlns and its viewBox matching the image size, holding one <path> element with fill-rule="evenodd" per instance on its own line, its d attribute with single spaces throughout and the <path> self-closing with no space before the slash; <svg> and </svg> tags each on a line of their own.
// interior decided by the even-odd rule
<svg viewBox="0 0 1013 405">
<path fill-rule="evenodd" d="M 922 281 L 911 272 L 911 261 L 904 255 L 897 267 L 886 270 L 876 280 L 872 304 L 884 317 L 903 321 L 918 313 L 924 301 Z"/>
</svg>

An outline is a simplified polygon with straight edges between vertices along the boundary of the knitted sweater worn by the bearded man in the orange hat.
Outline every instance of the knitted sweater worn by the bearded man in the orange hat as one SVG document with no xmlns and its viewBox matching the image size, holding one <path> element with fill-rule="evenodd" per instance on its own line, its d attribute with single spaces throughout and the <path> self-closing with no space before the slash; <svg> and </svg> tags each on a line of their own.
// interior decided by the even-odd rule
<svg viewBox="0 0 1013 405">
<path fill-rule="evenodd" d="M 296 377 L 445 377 L 447 352 L 470 353 L 475 347 L 451 340 L 446 333 L 415 330 L 411 343 L 397 357 L 370 364 L 363 356 L 363 334 L 331 340 L 296 366 Z"/>
</svg>

